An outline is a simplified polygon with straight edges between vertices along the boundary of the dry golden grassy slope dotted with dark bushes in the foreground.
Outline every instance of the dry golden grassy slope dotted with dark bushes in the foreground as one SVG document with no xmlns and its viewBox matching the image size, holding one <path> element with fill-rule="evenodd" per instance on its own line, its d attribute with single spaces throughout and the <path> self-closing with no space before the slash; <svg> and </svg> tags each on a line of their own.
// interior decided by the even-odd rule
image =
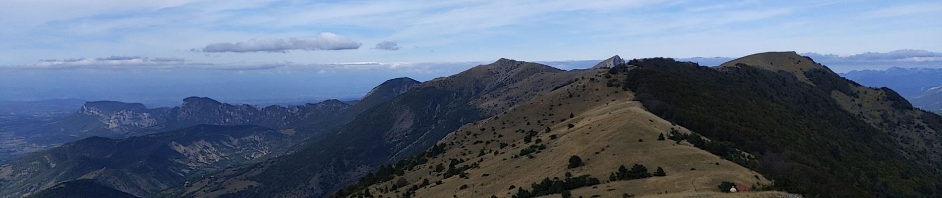
<svg viewBox="0 0 942 198">
<path fill-rule="evenodd" d="M 682 132 L 688 130 L 648 113 L 641 103 L 632 100 L 632 93 L 621 90 L 620 86 L 606 86 L 609 79 L 604 77 L 604 71 L 594 70 L 574 84 L 531 99 L 505 114 L 468 124 L 450 133 L 440 142 L 454 144 L 446 153 L 402 177 L 410 183 L 409 186 L 417 185 L 423 179 L 432 183 L 416 190 L 414 197 L 511 197 L 517 191 L 511 186 L 530 190 L 532 183 L 547 177 L 563 177 L 567 172 L 592 175 L 603 181 L 600 185 L 573 190 L 575 197 L 719 191 L 717 185 L 722 181 L 739 185 L 771 182 L 762 175 L 691 145 L 657 141 L 658 134 L 672 128 Z M 624 79 L 624 76 L 610 79 Z M 570 114 L 575 116 L 570 118 Z M 575 127 L 568 129 L 569 124 Z M 544 132 L 547 127 L 551 130 Z M 547 148 L 532 154 L 533 159 L 526 156 L 514 158 L 521 149 L 535 144 L 524 143 L 526 132 L 516 132 L 518 129 L 540 131 L 533 140 L 541 139 Z M 558 138 L 550 140 L 550 135 Z M 501 143 L 512 146 L 500 149 L 498 145 Z M 480 150 L 487 154 L 478 157 Z M 495 150 L 500 154 L 495 155 Z M 574 155 L 579 156 L 585 165 L 568 169 L 568 160 Z M 479 168 L 467 170 L 469 178 L 456 175 L 442 180 L 442 174 L 432 173 L 432 170 L 437 164 L 447 166 L 449 159 L 465 160 L 461 165 L 478 162 Z M 650 172 L 663 167 L 667 176 L 607 181 L 609 174 L 619 166 L 630 167 L 635 163 L 647 166 Z M 393 179 L 396 180 L 398 178 Z M 438 180 L 443 184 L 435 185 Z M 393 181 L 374 185 L 370 191 L 377 195 L 380 189 L 392 186 Z M 461 190 L 463 185 L 467 188 Z M 405 189 L 382 195 L 397 197 Z M 554 196 L 559 194 L 548 197 Z"/>
</svg>

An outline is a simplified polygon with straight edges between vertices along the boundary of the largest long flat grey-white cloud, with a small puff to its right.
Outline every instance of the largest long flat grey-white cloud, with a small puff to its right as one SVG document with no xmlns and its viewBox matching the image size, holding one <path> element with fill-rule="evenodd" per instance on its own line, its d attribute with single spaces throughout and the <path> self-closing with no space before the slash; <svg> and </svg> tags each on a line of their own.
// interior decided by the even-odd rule
<svg viewBox="0 0 942 198">
<path fill-rule="evenodd" d="M 250 39 L 235 43 L 212 43 L 203 47 L 202 51 L 205 53 L 287 53 L 291 50 L 355 50 L 359 49 L 360 45 L 361 43 L 349 38 L 325 32 L 314 38 Z"/>
</svg>

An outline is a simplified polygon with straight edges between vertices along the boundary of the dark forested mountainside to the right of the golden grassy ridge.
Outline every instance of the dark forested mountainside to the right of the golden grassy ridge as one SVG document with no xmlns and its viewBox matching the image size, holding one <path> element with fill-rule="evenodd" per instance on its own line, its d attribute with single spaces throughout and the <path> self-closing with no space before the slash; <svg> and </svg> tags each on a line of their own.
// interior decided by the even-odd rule
<svg viewBox="0 0 942 198">
<path fill-rule="evenodd" d="M 827 69 L 774 67 L 813 64 L 810 59 L 773 58 L 753 60 L 766 66 L 720 68 L 632 60 L 640 68 L 628 72 L 625 87 L 652 113 L 758 155 L 757 170 L 776 180 L 778 190 L 822 197 L 942 191 L 930 185 L 939 182 L 932 176 L 938 160 L 919 158 L 938 152 L 937 115 L 914 110 L 891 89 L 863 87 Z"/>
</svg>

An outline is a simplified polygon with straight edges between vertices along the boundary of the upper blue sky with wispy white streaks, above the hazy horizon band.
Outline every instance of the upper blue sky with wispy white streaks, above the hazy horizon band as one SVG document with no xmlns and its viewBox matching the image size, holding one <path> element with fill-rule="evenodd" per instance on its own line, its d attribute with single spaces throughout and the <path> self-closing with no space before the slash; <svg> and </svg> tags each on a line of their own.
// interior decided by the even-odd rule
<svg viewBox="0 0 942 198">
<path fill-rule="evenodd" d="M 938 19 L 939 1 L 4 1 L 0 65 L 114 55 L 310 64 L 942 52 Z M 362 46 L 203 51 L 323 34 Z M 375 49 L 383 41 L 398 50 Z"/>
</svg>

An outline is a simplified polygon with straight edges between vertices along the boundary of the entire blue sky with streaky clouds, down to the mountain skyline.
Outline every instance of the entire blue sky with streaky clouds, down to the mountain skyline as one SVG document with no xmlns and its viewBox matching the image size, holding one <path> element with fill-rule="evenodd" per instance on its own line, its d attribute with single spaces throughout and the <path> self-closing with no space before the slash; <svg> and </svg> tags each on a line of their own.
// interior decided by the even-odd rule
<svg viewBox="0 0 942 198">
<path fill-rule="evenodd" d="M 0 99 L 357 96 L 501 57 L 942 67 L 939 19 L 942 1 L 0 0 Z"/>
</svg>

